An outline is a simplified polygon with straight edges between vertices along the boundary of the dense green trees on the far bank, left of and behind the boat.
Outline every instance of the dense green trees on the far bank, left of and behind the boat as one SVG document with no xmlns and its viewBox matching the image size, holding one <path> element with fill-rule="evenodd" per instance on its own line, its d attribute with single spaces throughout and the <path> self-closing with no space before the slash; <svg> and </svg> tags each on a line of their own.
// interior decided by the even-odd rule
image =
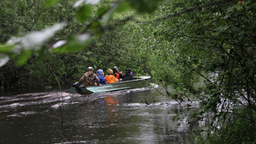
<svg viewBox="0 0 256 144">
<path fill-rule="evenodd" d="M 72 35 L 80 33 L 80 29 L 83 29 L 83 24 L 75 17 L 74 1 L 60 1 L 49 8 L 45 7 L 43 0 L 23 0 L 22 3 L 20 3 L 20 0 L 14 2 L 1 1 L 1 3 L 1 5 L 4 5 L 4 7 L 1 7 L 1 11 L 5 12 L 0 17 L 4 22 L 3 26 L 0 27 L 2 34 L 1 42 L 7 41 L 12 35 L 16 35 L 18 32 L 25 33 L 42 30 L 45 27 L 62 21 L 67 23 L 63 29 L 56 33 L 55 38 L 49 44 L 43 46 L 42 50 L 33 52 L 30 58 L 25 56 L 22 59 L 18 58 L 19 55 L 12 56 L 14 58 L 1 67 L 1 88 L 27 85 L 49 86 L 56 84 L 49 67 L 53 69 L 61 83 L 77 81 L 87 71 L 87 67 L 89 66 L 103 70 L 113 68 L 115 65 L 120 70 L 132 67 L 136 75 L 144 73 L 140 68 L 141 64 L 138 63 L 140 61 L 138 54 L 139 45 L 130 45 L 133 44 L 133 39 L 138 39 L 136 35 L 133 35 L 133 33 L 136 33 L 134 32 L 136 30 L 131 29 L 129 26 L 123 26 L 122 23 L 124 22 L 119 23 L 119 26 L 115 26 L 114 22 L 105 25 L 104 28 L 102 27 L 102 29 L 105 29 L 104 33 L 100 34 L 99 37 L 93 37 L 90 45 L 79 52 L 67 54 L 60 54 L 59 52 L 50 53 L 45 50 L 51 49 L 50 47 L 56 42 L 55 39 L 72 38 Z M 92 5 L 90 9 L 93 11 L 93 15 L 90 16 L 90 20 L 93 19 L 99 7 L 108 7 L 110 4 L 112 4 L 112 1 L 102 1 L 99 5 Z M 116 15 L 115 17 L 116 19 L 122 19 L 133 13 L 131 11 Z M 11 15 L 13 18 L 11 18 Z M 96 29 L 98 28 L 96 27 Z M 91 32 L 89 31 L 89 33 Z M 69 52 L 69 50 L 74 51 L 75 48 L 79 47 L 76 45 L 76 41 L 73 43 L 75 45 L 71 43 L 67 47 L 71 47 L 72 49 L 65 49 L 64 47 L 64 52 Z M 131 50 L 131 46 L 134 48 L 133 50 Z M 63 52 L 63 48 L 59 51 Z M 41 57 L 42 53 L 45 53 L 44 57 Z M 36 57 L 38 55 L 39 57 Z M 30 53 L 28 56 L 30 56 Z M 26 58 L 29 58 L 27 62 Z M 21 64 L 26 62 L 26 64 L 17 66 L 17 61 L 20 61 Z"/>
</svg>

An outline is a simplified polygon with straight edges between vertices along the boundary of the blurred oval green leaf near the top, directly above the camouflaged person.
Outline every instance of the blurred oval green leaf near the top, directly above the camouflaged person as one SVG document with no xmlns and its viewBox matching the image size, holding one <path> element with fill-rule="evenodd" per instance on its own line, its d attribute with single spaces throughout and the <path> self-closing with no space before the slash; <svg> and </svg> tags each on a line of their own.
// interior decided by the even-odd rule
<svg viewBox="0 0 256 144">
<path fill-rule="evenodd" d="M 91 7 L 90 5 L 84 5 L 77 12 L 76 16 L 78 17 L 81 23 L 85 22 L 87 18 L 91 16 Z"/>
</svg>

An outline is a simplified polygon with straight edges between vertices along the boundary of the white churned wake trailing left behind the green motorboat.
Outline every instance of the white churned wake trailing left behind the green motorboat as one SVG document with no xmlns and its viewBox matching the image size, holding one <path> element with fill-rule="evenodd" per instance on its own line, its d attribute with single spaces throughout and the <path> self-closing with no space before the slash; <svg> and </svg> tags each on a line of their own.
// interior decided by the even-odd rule
<svg viewBox="0 0 256 144">
<path fill-rule="evenodd" d="M 138 88 L 114 92 L 99 92 L 90 95 L 69 94 L 66 92 L 41 92 L 0 97 L 0 119 L 32 116 L 60 106 L 74 106 L 88 103 L 107 96 L 121 96 L 130 92 L 146 91 Z"/>
</svg>

